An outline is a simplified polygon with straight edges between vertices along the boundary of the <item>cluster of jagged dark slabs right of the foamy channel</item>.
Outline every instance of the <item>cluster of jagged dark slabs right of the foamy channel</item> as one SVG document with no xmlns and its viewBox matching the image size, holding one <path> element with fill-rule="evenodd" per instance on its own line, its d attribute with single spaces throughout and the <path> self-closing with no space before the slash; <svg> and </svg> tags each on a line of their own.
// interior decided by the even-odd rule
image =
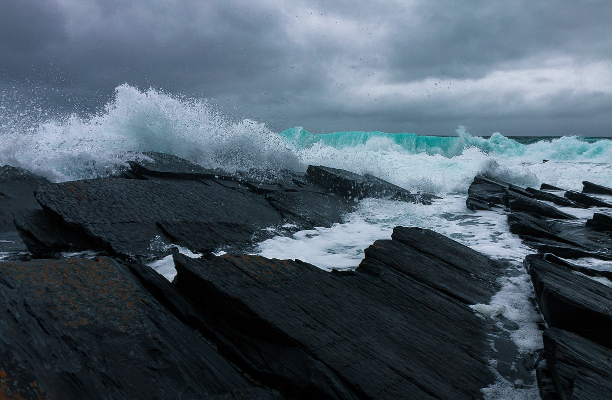
<svg viewBox="0 0 612 400">
<path fill-rule="evenodd" d="M 537 366 L 540 396 L 545 400 L 603 399 L 612 393 L 612 288 L 611 281 L 606 281 L 612 278 L 612 271 L 559 258 L 612 260 L 612 190 L 583 184 L 582 193 L 565 191 L 564 199 L 544 191 L 563 193 L 564 189 L 552 185 L 542 184 L 539 191 L 526 188 L 527 195 L 518 194 L 520 188 L 511 189 L 509 183 L 476 177 L 467 201 L 472 209 L 507 213 L 510 232 L 540 253 L 527 256 L 524 266 L 548 324 L 543 333 L 545 360 Z M 599 212 L 586 223 L 572 221 L 577 218 L 567 218 L 567 213 L 550 204 L 542 207 L 541 201 L 583 209 L 599 207 Z"/>
</svg>

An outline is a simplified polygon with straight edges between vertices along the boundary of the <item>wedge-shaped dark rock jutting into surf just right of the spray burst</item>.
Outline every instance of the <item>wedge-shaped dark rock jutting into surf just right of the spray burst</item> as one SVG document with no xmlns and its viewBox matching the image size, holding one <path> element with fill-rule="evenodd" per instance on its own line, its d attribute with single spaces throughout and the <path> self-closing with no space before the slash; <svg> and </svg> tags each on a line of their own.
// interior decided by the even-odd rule
<svg viewBox="0 0 612 400">
<path fill-rule="evenodd" d="M 401 196 L 401 199 L 417 201 L 408 190 L 393 183 L 375 176 L 359 175 L 344 169 L 309 165 L 306 177 L 327 190 L 348 199 L 360 200 L 366 197 Z"/>
</svg>

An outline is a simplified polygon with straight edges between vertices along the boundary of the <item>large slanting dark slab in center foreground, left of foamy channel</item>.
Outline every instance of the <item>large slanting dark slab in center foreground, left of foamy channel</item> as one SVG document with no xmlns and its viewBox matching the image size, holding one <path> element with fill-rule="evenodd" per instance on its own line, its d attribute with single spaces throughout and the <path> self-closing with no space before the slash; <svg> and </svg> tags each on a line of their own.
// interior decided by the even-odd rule
<svg viewBox="0 0 612 400">
<path fill-rule="evenodd" d="M 215 316 L 219 347 L 290 398 L 480 398 L 494 380 L 483 320 L 431 281 L 403 272 L 410 246 L 389 242 L 398 249 L 368 251 L 364 262 L 395 261 L 356 272 L 259 256 L 175 254 L 176 284 Z M 440 264 L 443 273 L 448 264 Z M 452 268 L 446 274 L 461 275 Z M 455 282 L 481 284 L 465 275 Z"/>
</svg>

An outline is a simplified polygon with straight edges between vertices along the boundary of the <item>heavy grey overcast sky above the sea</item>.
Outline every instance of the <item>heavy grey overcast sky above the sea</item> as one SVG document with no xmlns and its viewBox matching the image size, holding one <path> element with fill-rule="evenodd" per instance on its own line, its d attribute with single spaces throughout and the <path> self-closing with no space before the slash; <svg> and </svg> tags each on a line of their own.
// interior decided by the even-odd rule
<svg viewBox="0 0 612 400">
<path fill-rule="evenodd" d="M 612 136 L 610 0 L 0 0 L 0 101 L 128 83 L 274 130 Z"/>
</svg>

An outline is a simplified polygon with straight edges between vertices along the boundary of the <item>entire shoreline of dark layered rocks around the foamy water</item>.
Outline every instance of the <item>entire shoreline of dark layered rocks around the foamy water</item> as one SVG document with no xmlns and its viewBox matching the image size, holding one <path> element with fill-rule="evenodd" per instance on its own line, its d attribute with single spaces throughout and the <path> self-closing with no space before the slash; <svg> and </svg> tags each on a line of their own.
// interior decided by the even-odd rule
<svg viewBox="0 0 612 400">
<path fill-rule="evenodd" d="M 519 369 L 545 400 L 612 393 L 612 288 L 592 279 L 611 273 L 567 261 L 612 259 L 610 215 L 582 225 L 567 208 L 612 207 L 609 188 L 469 187 L 469 209 L 507 213 L 537 253 L 524 266 L 544 349 L 517 367 L 471 307 L 507 265 L 444 235 L 396 227 L 353 271 L 242 255 L 340 223 L 363 198 L 435 196 L 325 166 L 263 176 L 144 156 L 62 183 L 0 169 L 0 399 L 481 399 Z M 144 265 L 169 254 L 172 283 Z"/>
</svg>

